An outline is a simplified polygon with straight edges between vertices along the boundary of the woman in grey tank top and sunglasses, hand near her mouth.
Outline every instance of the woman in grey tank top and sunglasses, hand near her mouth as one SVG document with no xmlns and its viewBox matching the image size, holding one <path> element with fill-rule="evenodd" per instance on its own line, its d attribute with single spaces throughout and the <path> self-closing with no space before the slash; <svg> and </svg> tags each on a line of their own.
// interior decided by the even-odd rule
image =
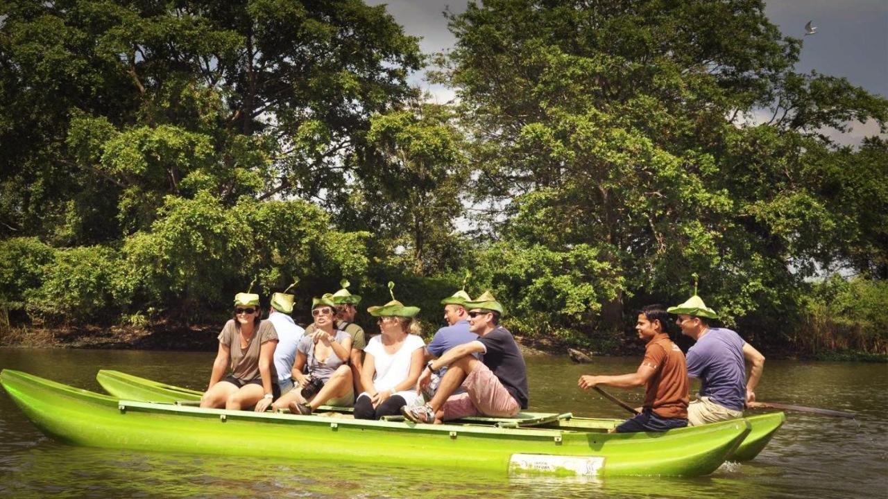
<svg viewBox="0 0 888 499">
<path fill-rule="evenodd" d="M 313 332 L 302 337 L 296 347 L 293 380 L 297 388 L 276 400 L 274 410 L 289 408 L 293 414 L 309 415 L 321 405 L 350 408 L 354 403 L 352 368 L 348 366 L 352 335 L 333 328 L 336 304 L 328 295 L 312 298 L 312 317 Z M 319 382 L 322 385 L 316 392 L 306 392 Z"/>
</svg>

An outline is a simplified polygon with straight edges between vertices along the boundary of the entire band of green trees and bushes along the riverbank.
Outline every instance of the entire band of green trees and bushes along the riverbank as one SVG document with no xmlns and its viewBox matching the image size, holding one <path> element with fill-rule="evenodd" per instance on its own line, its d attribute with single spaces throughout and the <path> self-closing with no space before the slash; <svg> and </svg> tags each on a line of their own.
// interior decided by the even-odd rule
<svg viewBox="0 0 888 499">
<path fill-rule="evenodd" d="M 888 141 L 827 133 L 884 134 L 888 99 L 797 73 L 761 2 L 490 0 L 446 54 L 357 0 L 2 9 L 7 333 L 221 324 L 254 280 L 306 311 L 344 276 L 432 324 L 471 270 L 517 334 L 622 352 L 698 273 L 765 353 L 888 354 Z"/>
</svg>

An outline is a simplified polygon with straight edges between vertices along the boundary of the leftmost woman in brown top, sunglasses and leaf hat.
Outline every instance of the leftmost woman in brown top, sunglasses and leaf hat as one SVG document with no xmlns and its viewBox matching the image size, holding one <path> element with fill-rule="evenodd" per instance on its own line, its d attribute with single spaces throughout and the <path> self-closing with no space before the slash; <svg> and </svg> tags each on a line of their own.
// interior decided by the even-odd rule
<svg viewBox="0 0 888 499">
<path fill-rule="evenodd" d="M 262 321 L 259 296 L 234 296 L 234 318 L 219 333 L 210 386 L 201 398 L 202 408 L 242 409 L 256 406 L 263 412 L 280 394 L 274 372 L 278 337 L 270 321 Z M 223 378 L 226 368 L 231 373 Z"/>
</svg>

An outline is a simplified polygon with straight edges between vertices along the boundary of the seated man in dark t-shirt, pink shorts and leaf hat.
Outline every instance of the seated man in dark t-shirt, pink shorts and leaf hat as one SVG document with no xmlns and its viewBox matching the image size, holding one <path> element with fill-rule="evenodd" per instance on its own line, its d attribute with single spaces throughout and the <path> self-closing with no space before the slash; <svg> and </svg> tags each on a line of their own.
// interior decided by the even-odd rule
<svg viewBox="0 0 888 499">
<path fill-rule="evenodd" d="M 467 416 L 512 417 L 527 408 L 527 366 L 515 338 L 499 326 L 503 305 L 485 291 L 474 301 L 465 302 L 469 330 L 477 340 L 458 345 L 439 359 L 430 360 L 416 382 L 422 389 L 432 371 L 448 366 L 438 392 L 425 405 L 401 408 L 401 414 L 415 423 L 440 423 Z M 482 353 L 484 360 L 472 354 Z M 453 395 L 462 386 L 464 393 Z"/>
</svg>

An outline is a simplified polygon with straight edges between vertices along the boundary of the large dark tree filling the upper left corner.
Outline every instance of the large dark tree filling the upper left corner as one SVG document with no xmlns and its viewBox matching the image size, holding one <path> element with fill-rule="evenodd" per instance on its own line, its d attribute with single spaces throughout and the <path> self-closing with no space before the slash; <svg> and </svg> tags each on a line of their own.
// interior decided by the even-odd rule
<svg viewBox="0 0 888 499">
<path fill-rule="evenodd" d="M 422 62 L 359 0 L 12 0 L 0 19 L 0 227 L 61 245 L 144 230 L 170 194 L 323 202 Z"/>
</svg>

